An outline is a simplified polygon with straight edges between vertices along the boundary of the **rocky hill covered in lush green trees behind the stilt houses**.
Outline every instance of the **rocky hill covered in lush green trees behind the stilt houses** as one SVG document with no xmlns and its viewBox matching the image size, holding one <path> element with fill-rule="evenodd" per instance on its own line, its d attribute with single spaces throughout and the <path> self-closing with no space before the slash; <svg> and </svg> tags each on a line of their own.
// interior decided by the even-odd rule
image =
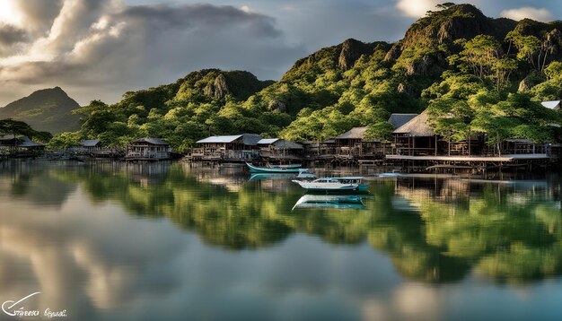
<svg viewBox="0 0 562 321">
<path fill-rule="evenodd" d="M 452 138 L 476 131 L 545 140 L 547 120 L 559 119 L 536 101 L 562 98 L 561 30 L 562 22 L 441 4 L 397 43 L 347 39 L 299 59 L 278 82 L 211 69 L 127 92 L 111 106 L 92 101 L 72 137 L 119 144 L 159 136 L 180 150 L 208 134 L 321 141 L 354 126 L 388 134 L 391 113 L 429 108 L 435 130 Z"/>
</svg>

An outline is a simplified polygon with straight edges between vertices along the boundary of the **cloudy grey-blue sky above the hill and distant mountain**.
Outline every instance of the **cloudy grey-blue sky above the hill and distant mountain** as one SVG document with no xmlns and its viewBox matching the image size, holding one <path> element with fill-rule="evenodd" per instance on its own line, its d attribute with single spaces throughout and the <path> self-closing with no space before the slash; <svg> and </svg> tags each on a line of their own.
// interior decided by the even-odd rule
<svg viewBox="0 0 562 321">
<path fill-rule="evenodd" d="M 204 68 L 278 80 L 354 38 L 401 39 L 443 0 L 0 0 L 0 106 L 62 87 L 85 105 Z M 460 2 L 459 2 L 460 3 Z M 490 17 L 562 19 L 562 0 L 467 0 Z"/>
</svg>

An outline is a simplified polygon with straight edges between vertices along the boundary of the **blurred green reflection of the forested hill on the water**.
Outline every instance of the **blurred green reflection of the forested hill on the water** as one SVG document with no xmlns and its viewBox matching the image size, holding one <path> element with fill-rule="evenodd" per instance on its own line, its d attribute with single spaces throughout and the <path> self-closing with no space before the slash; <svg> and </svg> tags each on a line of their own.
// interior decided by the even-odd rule
<svg viewBox="0 0 562 321">
<path fill-rule="evenodd" d="M 373 183 L 373 197 L 364 200 L 369 211 L 292 212 L 298 188 L 272 192 L 252 181 L 233 192 L 180 165 L 131 170 L 51 168 L 27 179 L 31 185 L 58 180 L 48 183 L 55 188 L 78 182 L 94 202 L 115 200 L 131 215 L 167 217 L 207 243 L 231 249 L 266 247 L 300 232 L 333 244 L 366 240 L 389 253 L 402 275 L 424 282 L 459 281 L 471 270 L 499 282 L 562 274 L 562 216 L 553 201 L 559 185 L 400 178 L 397 185 Z M 399 205 L 404 199 L 410 207 Z"/>
</svg>

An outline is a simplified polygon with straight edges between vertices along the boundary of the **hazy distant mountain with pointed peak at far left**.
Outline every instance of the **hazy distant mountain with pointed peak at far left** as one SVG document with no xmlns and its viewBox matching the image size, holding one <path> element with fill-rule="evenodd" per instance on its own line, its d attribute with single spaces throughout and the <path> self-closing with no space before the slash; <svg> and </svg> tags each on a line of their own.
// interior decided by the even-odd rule
<svg viewBox="0 0 562 321">
<path fill-rule="evenodd" d="M 0 108 L 0 118 L 13 118 L 34 129 L 58 134 L 80 128 L 80 117 L 72 113 L 80 105 L 60 87 L 31 93 Z"/>
</svg>

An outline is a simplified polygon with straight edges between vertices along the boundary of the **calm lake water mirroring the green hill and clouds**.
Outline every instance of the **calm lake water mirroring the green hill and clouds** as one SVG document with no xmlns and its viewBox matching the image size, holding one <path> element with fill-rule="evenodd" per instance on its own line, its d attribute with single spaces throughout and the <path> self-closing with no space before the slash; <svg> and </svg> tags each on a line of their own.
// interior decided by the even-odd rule
<svg viewBox="0 0 562 321">
<path fill-rule="evenodd" d="M 556 175 L 331 198 L 249 178 L 0 163 L 0 303 L 40 292 L 15 308 L 69 320 L 562 318 Z"/>
</svg>

